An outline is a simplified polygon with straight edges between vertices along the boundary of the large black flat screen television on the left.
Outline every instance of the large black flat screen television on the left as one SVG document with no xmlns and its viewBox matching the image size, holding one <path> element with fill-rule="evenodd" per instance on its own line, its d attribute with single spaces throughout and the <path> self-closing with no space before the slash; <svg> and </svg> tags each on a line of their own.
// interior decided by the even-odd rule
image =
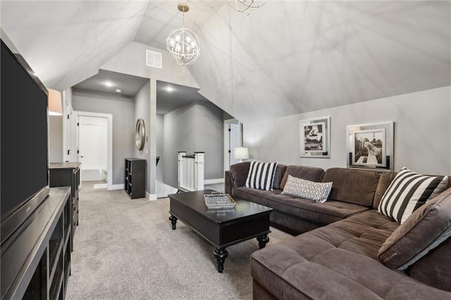
<svg viewBox="0 0 451 300">
<path fill-rule="evenodd" d="M 47 89 L 1 39 L 1 244 L 49 194 Z"/>
</svg>

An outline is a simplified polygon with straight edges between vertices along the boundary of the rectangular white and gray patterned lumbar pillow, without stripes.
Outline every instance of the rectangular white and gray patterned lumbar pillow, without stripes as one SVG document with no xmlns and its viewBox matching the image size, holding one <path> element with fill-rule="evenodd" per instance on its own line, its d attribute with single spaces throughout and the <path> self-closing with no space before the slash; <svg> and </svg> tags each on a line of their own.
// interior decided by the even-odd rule
<svg viewBox="0 0 451 300">
<path fill-rule="evenodd" d="M 327 201 L 330 189 L 332 189 L 332 182 L 313 182 L 288 175 L 282 194 L 324 203 Z"/>
</svg>

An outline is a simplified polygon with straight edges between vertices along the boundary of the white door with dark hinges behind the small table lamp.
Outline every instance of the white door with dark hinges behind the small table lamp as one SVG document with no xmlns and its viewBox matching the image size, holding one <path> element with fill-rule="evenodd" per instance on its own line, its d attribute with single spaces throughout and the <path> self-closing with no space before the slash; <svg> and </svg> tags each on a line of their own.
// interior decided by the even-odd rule
<svg viewBox="0 0 451 300">
<path fill-rule="evenodd" d="M 236 147 L 242 146 L 242 124 L 236 119 L 224 121 L 224 170 L 229 170 L 230 165 L 239 163 L 240 160 L 233 158 Z"/>
</svg>

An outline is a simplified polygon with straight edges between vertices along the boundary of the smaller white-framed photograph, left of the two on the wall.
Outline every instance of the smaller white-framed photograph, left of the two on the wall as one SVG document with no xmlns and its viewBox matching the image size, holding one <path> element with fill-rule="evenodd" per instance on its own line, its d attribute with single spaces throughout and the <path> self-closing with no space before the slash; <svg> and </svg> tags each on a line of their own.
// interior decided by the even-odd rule
<svg viewBox="0 0 451 300">
<path fill-rule="evenodd" d="M 299 156 L 330 158 L 330 117 L 299 121 Z"/>
</svg>

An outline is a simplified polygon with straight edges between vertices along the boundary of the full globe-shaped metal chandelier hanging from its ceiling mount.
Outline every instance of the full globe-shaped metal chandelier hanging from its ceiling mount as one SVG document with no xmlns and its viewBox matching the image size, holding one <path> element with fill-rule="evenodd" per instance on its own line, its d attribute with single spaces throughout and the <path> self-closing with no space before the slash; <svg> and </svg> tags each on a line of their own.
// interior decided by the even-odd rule
<svg viewBox="0 0 451 300">
<path fill-rule="evenodd" d="M 166 49 L 178 65 L 191 65 L 200 55 L 199 37 L 192 30 L 185 28 L 185 13 L 190 10 L 190 6 L 178 4 L 177 8 L 182 12 L 182 28 L 169 33 Z"/>
</svg>

